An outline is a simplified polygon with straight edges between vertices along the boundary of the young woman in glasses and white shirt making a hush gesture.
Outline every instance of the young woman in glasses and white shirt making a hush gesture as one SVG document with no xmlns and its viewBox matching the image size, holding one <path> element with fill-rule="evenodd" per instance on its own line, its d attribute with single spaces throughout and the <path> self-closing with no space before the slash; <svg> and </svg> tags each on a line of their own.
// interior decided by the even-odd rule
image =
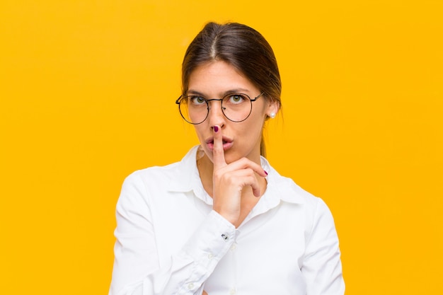
<svg viewBox="0 0 443 295">
<path fill-rule="evenodd" d="M 344 294 L 328 207 L 264 158 L 263 125 L 281 106 L 270 45 L 208 23 L 182 74 L 176 103 L 200 145 L 125 180 L 110 294 Z"/>
</svg>

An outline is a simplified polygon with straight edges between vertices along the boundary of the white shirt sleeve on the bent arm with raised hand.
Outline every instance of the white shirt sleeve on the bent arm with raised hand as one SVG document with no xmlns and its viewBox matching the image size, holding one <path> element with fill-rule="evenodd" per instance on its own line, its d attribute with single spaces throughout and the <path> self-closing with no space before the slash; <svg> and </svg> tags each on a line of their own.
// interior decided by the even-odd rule
<svg viewBox="0 0 443 295">
<path fill-rule="evenodd" d="M 159 257 L 142 180 L 127 178 L 117 202 L 113 279 L 109 295 L 202 294 L 204 282 L 228 252 L 234 225 L 210 212 L 169 262 Z"/>
</svg>

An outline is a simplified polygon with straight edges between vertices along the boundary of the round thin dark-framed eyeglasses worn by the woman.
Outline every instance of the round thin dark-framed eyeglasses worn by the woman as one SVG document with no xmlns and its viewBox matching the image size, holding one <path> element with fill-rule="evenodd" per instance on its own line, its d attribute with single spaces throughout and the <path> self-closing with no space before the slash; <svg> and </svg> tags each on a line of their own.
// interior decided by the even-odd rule
<svg viewBox="0 0 443 295">
<path fill-rule="evenodd" d="M 202 96 L 180 96 L 176 100 L 180 115 L 186 122 L 197 125 L 204 122 L 209 115 L 209 101 L 222 102 L 223 115 L 232 122 L 242 122 L 248 119 L 252 112 L 252 102 L 263 96 L 260 93 L 255 98 L 250 98 L 244 93 L 229 93 L 221 99 L 206 99 Z"/>
</svg>

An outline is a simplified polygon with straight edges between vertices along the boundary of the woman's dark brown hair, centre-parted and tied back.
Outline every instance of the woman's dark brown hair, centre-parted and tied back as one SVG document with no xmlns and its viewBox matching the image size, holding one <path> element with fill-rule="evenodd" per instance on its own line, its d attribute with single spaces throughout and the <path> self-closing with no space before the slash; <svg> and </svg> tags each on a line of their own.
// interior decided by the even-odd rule
<svg viewBox="0 0 443 295">
<path fill-rule="evenodd" d="M 182 92 L 186 93 L 189 78 L 197 66 L 221 60 L 244 74 L 267 99 L 281 107 L 282 81 L 277 59 L 265 37 L 241 23 L 207 23 L 186 50 L 182 64 Z M 265 144 L 260 145 L 265 156 Z"/>
</svg>

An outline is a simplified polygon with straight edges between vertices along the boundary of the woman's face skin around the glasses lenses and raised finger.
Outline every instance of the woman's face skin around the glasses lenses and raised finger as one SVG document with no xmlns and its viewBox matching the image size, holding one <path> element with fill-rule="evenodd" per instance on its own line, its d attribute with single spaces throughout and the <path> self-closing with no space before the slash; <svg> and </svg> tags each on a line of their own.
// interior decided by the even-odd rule
<svg viewBox="0 0 443 295">
<path fill-rule="evenodd" d="M 255 87 L 245 76 L 223 61 L 213 61 L 192 71 L 189 79 L 188 96 L 202 96 L 209 99 L 219 99 L 227 93 L 245 93 L 251 99 L 260 95 L 260 89 Z M 260 163 L 260 141 L 263 124 L 267 115 L 277 112 L 278 105 L 261 96 L 252 102 L 252 111 L 243 122 L 228 120 L 218 100 L 209 101 L 209 114 L 204 122 L 195 126 L 197 137 L 212 161 L 213 127 L 220 127 L 223 136 L 224 156 L 226 163 L 239 158 L 249 158 Z"/>
</svg>

